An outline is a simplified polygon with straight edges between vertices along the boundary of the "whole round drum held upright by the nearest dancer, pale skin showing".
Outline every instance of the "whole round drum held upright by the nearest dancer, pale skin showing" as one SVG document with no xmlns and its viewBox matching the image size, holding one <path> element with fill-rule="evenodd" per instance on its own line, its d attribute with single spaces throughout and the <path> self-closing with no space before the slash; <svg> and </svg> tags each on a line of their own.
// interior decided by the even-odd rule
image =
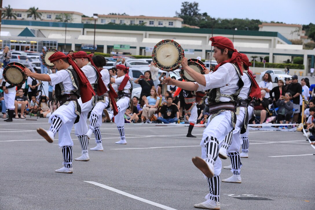
<svg viewBox="0 0 315 210">
<path fill-rule="evenodd" d="M 180 66 L 184 50 L 174 40 L 166 39 L 157 43 L 152 51 L 152 60 L 161 70 L 174 71 Z"/>
</svg>

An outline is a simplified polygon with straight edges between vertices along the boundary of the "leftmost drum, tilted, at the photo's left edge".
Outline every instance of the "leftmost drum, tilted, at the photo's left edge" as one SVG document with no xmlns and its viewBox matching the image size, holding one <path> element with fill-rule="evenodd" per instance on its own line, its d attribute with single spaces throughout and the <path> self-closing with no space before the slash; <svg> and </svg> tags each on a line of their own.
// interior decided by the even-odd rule
<svg viewBox="0 0 315 210">
<path fill-rule="evenodd" d="M 26 67 L 18 62 L 9 63 L 3 69 L 3 78 L 7 81 L 10 85 L 20 86 L 25 83 L 27 78 L 26 74 L 24 73 L 24 69 Z"/>
</svg>

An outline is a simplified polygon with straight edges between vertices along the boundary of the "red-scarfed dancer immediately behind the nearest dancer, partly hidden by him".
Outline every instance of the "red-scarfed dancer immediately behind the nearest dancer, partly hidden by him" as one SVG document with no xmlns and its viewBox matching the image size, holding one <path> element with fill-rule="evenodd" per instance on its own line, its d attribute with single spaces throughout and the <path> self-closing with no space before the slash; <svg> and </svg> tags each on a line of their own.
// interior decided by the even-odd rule
<svg viewBox="0 0 315 210">
<path fill-rule="evenodd" d="M 248 123 L 248 105 L 252 101 L 252 95 L 255 93 L 260 94 L 260 88 L 256 83 L 255 79 L 251 74 L 248 73 L 249 66 L 251 63 L 248 60 L 248 57 L 245 54 L 242 56 L 242 80 L 244 86 L 238 95 L 238 108 L 237 108 L 237 121 L 235 129 L 231 131 L 225 138 L 219 150 L 219 157 L 226 159 L 227 156 L 230 157 L 232 163 L 232 177 L 227 179 L 222 179 L 222 182 L 232 182 L 232 183 L 241 183 L 241 159 L 239 155 L 239 149 L 242 144 L 240 133 L 244 133 L 247 129 Z M 255 96 L 256 97 L 256 96 Z M 228 152 L 228 155 L 226 155 Z"/>
</svg>

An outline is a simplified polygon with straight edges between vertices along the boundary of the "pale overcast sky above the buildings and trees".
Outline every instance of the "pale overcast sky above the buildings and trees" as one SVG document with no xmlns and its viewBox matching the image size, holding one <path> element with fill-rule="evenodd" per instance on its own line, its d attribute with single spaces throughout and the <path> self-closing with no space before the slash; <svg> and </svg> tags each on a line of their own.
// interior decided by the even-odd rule
<svg viewBox="0 0 315 210">
<path fill-rule="evenodd" d="M 3 0 L 3 8 L 10 4 L 14 9 L 29 9 L 35 6 L 42 10 L 76 11 L 87 16 L 92 16 L 93 13 L 102 15 L 126 13 L 173 17 L 176 11 L 180 12 L 181 2 L 184 0 Z M 196 0 L 196 2 L 199 3 L 200 13 L 207 12 L 215 18 L 249 18 L 287 24 L 307 25 L 310 22 L 315 24 L 314 0 Z"/>
</svg>

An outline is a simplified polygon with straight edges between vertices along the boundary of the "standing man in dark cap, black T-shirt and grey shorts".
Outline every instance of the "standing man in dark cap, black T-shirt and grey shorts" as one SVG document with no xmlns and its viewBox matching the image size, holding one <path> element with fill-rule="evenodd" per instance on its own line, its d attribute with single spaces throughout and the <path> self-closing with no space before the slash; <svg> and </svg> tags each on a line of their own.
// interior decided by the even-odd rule
<svg viewBox="0 0 315 210">
<path fill-rule="evenodd" d="M 293 121 L 297 122 L 300 113 L 300 95 L 302 94 L 302 85 L 298 83 L 297 75 L 292 77 L 292 83 L 288 85 L 287 92 L 291 93 L 292 95 L 293 108 L 295 109 Z"/>
</svg>

